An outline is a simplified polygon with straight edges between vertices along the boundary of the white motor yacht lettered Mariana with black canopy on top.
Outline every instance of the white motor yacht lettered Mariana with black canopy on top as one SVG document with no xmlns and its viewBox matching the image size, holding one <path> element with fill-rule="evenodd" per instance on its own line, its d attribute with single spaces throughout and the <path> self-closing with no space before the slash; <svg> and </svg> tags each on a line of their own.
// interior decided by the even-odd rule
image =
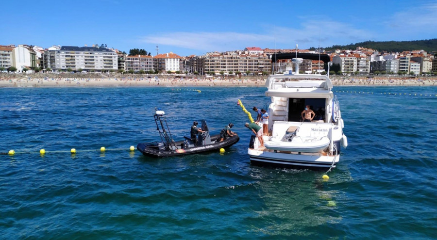
<svg viewBox="0 0 437 240">
<path fill-rule="evenodd" d="M 252 137 L 248 149 L 252 164 L 331 169 L 340 160 L 341 146 L 347 147 L 332 82 L 326 75 L 299 74 L 303 58 L 330 62 L 328 55 L 319 54 L 272 56 L 272 61 L 291 59 L 295 73 L 270 75 L 266 81 L 266 96 L 271 98 L 269 136 L 263 136 L 265 147 L 259 147 L 258 139 Z M 307 105 L 315 113 L 311 122 L 303 122 L 301 115 Z"/>
</svg>

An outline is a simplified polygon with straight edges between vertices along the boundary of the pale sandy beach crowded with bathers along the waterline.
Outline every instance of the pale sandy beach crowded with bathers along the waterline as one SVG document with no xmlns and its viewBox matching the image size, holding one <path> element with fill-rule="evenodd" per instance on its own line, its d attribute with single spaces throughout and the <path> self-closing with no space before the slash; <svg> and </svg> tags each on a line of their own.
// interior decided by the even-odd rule
<svg viewBox="0 0 437 240">
<path fill-rule="evenodd" d="M 34 73 L 0 74 L 0 87 L 87 87 L 87 86 L 260 86 L 266 76 L 258 77 L 198 77 L 134 74 Z M 357 77 L 334 76 L 333 85 L 353 86 L 436 86 L 437 77 Z"/>
</svg>

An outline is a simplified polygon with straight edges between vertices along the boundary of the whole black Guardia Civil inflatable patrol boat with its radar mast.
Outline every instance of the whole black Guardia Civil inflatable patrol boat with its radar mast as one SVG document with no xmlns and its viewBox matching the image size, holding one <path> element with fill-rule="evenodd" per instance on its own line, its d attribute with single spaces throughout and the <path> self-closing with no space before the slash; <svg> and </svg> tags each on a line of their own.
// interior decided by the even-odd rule
<svg viewBox="0 0 437 240">
<path fill-rule="evenodd" d="M 206 121 L 202 120 L 201 129 L 204 132 L 199 133 L 197 145 L 195 139 L 191 139 L 187 136 L 184 136 L 184 140 L 175 142 L 173 141 L 170 130 L 168 129 L 167 120 L 164 114 L 164 111 L 158 109 L 154 115 L 161 141 L 154 143 L 140 143 L 136 146 L 136 149 L 145 156 L 163 158 L 215 151 L 236 144 L 240 140 L 238 135 L 234 134 L 234 136 L 228 137 L 220 142 L 220 134 L 211 136 Z"/>
</svg>

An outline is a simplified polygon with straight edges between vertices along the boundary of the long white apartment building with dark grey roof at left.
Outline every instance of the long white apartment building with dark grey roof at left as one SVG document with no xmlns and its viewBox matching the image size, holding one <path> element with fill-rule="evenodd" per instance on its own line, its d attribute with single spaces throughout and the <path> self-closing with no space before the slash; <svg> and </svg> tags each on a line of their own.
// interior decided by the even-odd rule
<svg viewBox="0 0 437 240">
<path fill-rule="evenodd" d="M 50 68 L 72 70 L 117 70 L 117 53 L 107 48 L 63 46 L 54 52 L 54 64 Z M 54 66 L 54 67 L 53 67 Z"/>
</svg>

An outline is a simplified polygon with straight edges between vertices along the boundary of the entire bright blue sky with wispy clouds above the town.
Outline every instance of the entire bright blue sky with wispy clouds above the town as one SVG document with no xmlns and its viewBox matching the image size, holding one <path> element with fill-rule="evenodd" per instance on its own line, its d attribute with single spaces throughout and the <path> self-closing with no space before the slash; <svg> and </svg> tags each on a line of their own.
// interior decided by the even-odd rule
<svg viewBox="0 0 437 240">
<path fill-rule="evenodd" d="M 0 45 L 106 44 L 202 55 L 437 38 L 436 0 L 4 1 Z"/>
</svg>

